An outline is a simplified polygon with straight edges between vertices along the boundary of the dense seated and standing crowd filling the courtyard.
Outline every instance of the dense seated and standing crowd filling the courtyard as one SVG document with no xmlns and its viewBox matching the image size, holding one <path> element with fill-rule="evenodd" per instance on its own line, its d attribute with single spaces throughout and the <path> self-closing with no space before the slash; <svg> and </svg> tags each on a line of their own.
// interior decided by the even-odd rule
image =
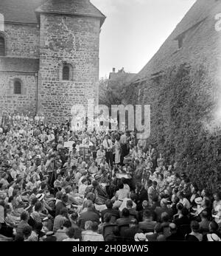
<svg viewBox="0 0 221 256">
<path fill-rule="evenodd" d="M 134 131 L 16 115 L 0 142 L 0 241 L 221 241 L 221 192 Z"/>
</svg>

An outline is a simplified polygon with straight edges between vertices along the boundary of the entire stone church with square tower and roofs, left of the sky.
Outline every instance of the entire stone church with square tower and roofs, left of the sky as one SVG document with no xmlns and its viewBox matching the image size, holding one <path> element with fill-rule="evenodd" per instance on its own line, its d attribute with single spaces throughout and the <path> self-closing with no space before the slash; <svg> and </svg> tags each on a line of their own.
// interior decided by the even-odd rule
<svg viewBox="0 0 221 256">
<path fill-rule="evenodd" d="M 89 0 L 3 0 L 0 13 L 1 112 L 38 112 L 53 121 L 75 104 L 98 103 L 105 15 Z"/>
</svg>

